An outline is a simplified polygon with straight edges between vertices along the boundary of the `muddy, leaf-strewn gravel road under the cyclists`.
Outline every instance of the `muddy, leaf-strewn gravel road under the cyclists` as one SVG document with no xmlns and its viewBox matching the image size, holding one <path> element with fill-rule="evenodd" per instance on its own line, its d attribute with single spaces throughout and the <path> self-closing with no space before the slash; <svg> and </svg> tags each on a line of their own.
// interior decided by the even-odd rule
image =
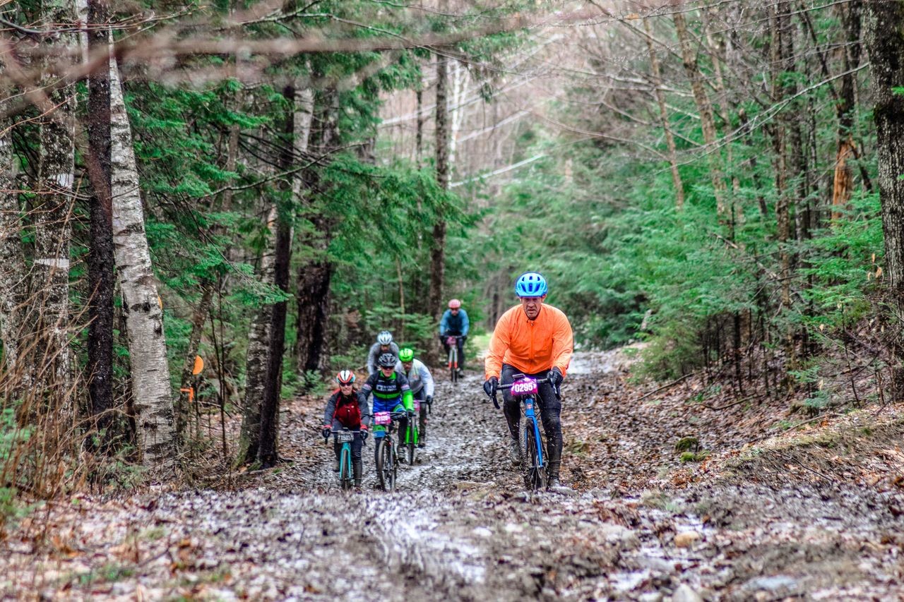
<svg viewBox="0 0 904 602">
<path fill-rule="evenodd" d="M 899 494 L 803 469 L 774 479 L 739 470 L 675 486 L 683 468 L 673 460 L 673 422 L 656 420 L 661 404 L 626 407 L 610 395 L 625 386 L 615 368 L 576 372 L 563 410 L 570 492 L 524 491 L 505 456 L 504 420 L 476 375 L 438 383 L 428 447 L 415 466 L 400 466 L 392 494 L 375 489 L 370 441 L 363 492 L 337 488 L 316 431 L 321 402 L 312 400 L 287 412 L 283 445 L 292 461 L 277 470 L 219 489 L 79 498 L 25 520 L 3 542 L 2 591 L 92 599 L 904 596 Z"/>
</svg>

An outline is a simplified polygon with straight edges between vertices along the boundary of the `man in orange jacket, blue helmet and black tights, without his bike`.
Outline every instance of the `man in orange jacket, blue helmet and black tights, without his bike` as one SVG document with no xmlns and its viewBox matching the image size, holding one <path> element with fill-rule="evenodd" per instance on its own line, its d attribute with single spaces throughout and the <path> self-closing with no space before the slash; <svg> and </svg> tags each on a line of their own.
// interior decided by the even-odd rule
<svg viewBox="0 0 904 602">
<path fill-rule="evenodd" d="M 573 336 L 565 314 L 556 307 L 543 304 L 548 290 L 546 279 L 536 272 L 518 277 L 514 292 L 521 305 L 506 311 L 496 323 L 485 361 L 484 390 L 492 397 L 500 381 L 508 384 L 513 381 L 513 374 L 518 372 L 538 380 L 550 380 L 540 385 L 537 406 L 543 430 L 546 431 L 546 453 L 549 458 L 547 484 L 552 489 L 560 486 L 562 431 L 559 386 L 568 372 Z M 505 419 L 512 435 L 512 462 L 520 464 L 522 454 L 518 423 L 521 408 L 507 389 L 503 390 L 503 399 Z"/>
</svg>

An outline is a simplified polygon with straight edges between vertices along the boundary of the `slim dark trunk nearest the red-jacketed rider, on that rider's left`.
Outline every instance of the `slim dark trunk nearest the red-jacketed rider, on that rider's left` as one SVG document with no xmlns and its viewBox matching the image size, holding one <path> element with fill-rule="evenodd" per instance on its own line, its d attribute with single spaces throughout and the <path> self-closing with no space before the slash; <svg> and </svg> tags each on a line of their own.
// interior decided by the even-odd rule
<svg viewBox="0 0 904 602">
<path fill-rule="evenodd" d="M 279 167 L 287 172 L 292 166 L 293 139 L 295 137 L 295 88 L 283 89 L 289 109 L 283 129 L 283 150 L 279 157 Z M 282 185 L 288 193 L 294 190 L 292 176 L 283 178 Z M 277 215 L 276 264 L 273 269 L 273 283 L 279 290 L 288 293 L 288 268 L 292 257 L 291 213 L 293 200 L 284 199 Z M 267 380 L 264 382 L 263 400 L 260 403 L 260 445 L 258 460 L 262 468 L 274 466 L 278 460 L 279 435 L 279 390 L 282 383 L 282 360 L 286 342 L 286 301 L 273 306 L 270 315 L 270 344 L 267 358 Z"/>
</svg>

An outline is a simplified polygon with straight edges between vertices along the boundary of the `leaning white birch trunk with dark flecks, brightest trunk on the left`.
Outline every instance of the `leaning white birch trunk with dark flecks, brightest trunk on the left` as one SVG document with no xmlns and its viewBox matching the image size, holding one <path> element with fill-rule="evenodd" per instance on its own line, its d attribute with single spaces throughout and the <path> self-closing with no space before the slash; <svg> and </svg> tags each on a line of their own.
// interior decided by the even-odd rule
<svg viewBox="0 0 904 602">
<path fill-rule="evenodd" d="M 116 60 L 110 61 L 110 180 L 113 242 L 128 334 L 137 446 L 148 467 L 173 456 L 173 396 L 163 309 L 145 234 L 132 130 Z"/>
</svg>

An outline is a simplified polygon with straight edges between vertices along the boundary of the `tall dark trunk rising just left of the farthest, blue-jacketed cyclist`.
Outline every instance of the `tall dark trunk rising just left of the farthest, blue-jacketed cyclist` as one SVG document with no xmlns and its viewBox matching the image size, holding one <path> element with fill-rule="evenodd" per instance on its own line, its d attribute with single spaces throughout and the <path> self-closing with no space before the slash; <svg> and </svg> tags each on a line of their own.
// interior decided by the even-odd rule
<svg viewBox="0 0 904 602">
<path fill-rule="evenodd" d="M 444 191 L 449 187 L 449 124 L 448 124 L 448 59 L 437 55 L 437 142 L 436 169 L 437 183 Z M 429 314 L 439 321 L 442 313 L 443 286 L 446 276 L 446 219 L 442 208 L 438 211 L 438 221 L 433 225 L 433 247 L 430 249 L 430 291 Z M 428 348 L 428 362 L 437 362 L 437 346 Z"/>
</svg>

